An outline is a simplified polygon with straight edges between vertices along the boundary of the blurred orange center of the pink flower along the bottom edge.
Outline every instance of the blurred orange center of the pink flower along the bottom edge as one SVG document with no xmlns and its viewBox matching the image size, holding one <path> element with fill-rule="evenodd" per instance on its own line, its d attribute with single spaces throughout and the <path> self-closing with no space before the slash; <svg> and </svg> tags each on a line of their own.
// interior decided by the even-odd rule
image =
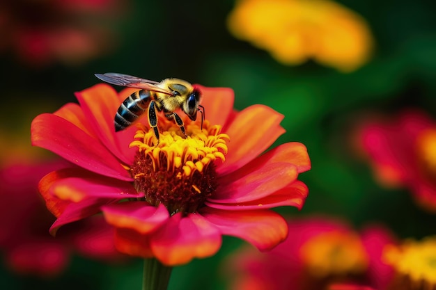
<svg viewBox="0 0 436 290">
<path fill-rule="evenodd" d="M 312 277 L 326 278 L 363 273 L 368 257 L 359 236 L 350 232 L 326 232 L 302 246 L 302 260 Z"/>
</svg>

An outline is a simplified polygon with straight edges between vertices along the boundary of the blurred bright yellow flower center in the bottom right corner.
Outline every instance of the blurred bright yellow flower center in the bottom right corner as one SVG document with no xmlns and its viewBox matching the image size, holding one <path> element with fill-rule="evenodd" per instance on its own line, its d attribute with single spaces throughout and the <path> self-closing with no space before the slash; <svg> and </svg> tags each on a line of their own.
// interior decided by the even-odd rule
<svg viewBox="0 0 436 290">
<path fill-rule="evenodd" d="M 402 245 L 387 245 L 382 258 L 398 275 L 409 278 L 411 284 L 405 289 L 436 288 L 436 236 L 422 241 L 407 240 Z M 422 287 L 417 288 L 418 285 Z"/>
</svg>

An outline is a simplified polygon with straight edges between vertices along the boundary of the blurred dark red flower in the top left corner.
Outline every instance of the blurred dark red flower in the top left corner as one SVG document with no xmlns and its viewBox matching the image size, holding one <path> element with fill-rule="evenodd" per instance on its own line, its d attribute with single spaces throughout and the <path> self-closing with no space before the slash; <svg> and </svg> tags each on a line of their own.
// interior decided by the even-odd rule
<svg viewBox="0 0 436 290">
<path fill-rule="evenodd" d="M 77 65 L 114 47 L 109 27 L 122 11 L 119 0 L 3 0 L 0 51 L 32 65 Z"/>
</svg>

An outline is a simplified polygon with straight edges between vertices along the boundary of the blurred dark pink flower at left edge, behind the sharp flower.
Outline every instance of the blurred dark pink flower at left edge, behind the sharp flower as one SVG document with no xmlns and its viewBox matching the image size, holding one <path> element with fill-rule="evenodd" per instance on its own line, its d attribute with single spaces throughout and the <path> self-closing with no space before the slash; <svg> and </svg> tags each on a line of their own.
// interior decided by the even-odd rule
<svg viewBox="0 0 436 290">
<path fill-rule="evenodd" d="M 58 275 L 72 253 L 105 261 L 125 259 L 111 239 L 113 229 L 101 216 L 65 227 L 56 239 L 49 234 L 55 218 L 38 194 L 38 182 L 65 166 L 65 161 L 40 161 L 10 164 L 0 170 L 0 250 L 6 266 L 16 273 Z"/>
</svg>

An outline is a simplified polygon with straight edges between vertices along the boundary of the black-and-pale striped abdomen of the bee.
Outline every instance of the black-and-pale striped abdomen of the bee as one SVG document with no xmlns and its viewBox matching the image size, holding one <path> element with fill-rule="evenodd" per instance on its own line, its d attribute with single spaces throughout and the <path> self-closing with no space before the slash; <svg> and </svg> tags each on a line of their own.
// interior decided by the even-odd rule
<svg viewBox="0 0 436 290">
<path fill-rule="evenodd" d="M 138 90 L 124 100 L 115 115 L 115 131 L 121 131 L 129 127 L 132 122 L 146 113 L 148 104 L 153 100 L 149 90 Z"/>
</svg>

